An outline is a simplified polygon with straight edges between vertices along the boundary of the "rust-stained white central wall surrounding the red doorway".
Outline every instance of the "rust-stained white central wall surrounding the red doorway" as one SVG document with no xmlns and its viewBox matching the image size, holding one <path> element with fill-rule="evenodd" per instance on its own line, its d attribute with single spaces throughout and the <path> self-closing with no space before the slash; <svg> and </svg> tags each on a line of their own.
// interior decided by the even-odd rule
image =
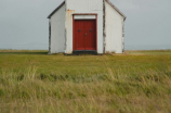
<svg viewBox="0 0 171 113">
<path fill-rule="evenodd" d="M 66 50 L 73 53 L 73 13 L 97 13 L 97 53 L 103 53 L 103 0 L 65 0 Z"/>
</svg>

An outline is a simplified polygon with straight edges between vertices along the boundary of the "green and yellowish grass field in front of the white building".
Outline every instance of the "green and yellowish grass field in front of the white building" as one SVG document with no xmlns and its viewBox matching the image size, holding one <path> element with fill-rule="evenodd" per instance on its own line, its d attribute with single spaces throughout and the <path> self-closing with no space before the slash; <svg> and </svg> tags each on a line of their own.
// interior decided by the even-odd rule
<svg viewBox="0 0 171 113">
<path fill-rule="evenodd" d="M 0 113 L 171 113 L 171 51 L 0 50 Z"/>
</svg>

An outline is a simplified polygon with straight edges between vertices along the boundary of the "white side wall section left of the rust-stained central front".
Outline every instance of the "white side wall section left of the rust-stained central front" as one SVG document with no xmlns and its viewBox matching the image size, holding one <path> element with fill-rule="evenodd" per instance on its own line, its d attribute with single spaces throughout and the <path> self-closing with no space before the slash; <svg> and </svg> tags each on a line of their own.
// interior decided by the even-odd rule
<svg viewBox="0 0 171 113">
<path fill-rule="evenodd" d="M 51 53 L 65 52 L 65 9 L 64 4 L 50 18 Z"/>
</svg>

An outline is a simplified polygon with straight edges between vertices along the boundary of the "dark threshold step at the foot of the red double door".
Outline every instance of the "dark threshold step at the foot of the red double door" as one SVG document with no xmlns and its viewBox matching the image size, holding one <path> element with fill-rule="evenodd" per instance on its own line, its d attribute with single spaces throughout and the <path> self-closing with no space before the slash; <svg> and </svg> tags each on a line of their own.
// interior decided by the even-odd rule
<svg viewBox="0 0 171 113">
<path fill-rule="evenodd" d="M 76 50 L 73 51 L 73 54 L 79 55 L 79 54 L 94 54 L 96 55 L 97 52 L 95 50 Z"/>
</svg>

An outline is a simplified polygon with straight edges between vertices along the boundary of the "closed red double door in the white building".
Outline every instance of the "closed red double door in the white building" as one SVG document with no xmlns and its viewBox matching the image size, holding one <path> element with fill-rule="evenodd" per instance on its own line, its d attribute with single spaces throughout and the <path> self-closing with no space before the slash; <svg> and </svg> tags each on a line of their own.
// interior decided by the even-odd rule
<svg viewBox="0 0 171 113">
<path fill-rule="evenodd" d="M 74 51 L 96 50 L 95 20 L 75 20 Z"/>
</svg>

